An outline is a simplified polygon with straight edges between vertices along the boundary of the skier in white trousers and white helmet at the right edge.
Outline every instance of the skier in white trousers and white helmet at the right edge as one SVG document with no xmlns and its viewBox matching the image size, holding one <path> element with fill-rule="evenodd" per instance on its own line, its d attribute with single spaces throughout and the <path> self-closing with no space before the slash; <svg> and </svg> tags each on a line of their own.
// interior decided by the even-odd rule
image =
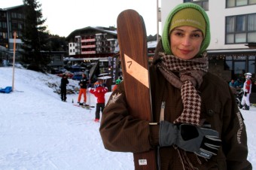
<svg viewBox="0 0 256 170">
<path fill-rule="evenodd" d="M 242 96 L 242 110 L 250 109 L 250 94 L 251 94 L 251 73 L 245 73 L 245 83 L 243 84 L 244 95 Z"/>
</svg>

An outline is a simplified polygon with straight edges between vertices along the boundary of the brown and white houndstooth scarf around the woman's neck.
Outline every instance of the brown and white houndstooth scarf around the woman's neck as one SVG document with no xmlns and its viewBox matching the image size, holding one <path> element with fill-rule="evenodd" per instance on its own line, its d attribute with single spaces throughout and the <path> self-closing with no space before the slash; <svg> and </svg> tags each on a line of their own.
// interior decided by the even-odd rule
<svg viewBox="0 0 256 170">
<path fill-rule="evenodd" d="M 169 83 L 181 90 L 184 109 L 174 123 L 199 126 L 201 97 L 197 89 L 203 81 L 203 75 L 208 71 L 208 58 L 184 60 L 162 52 L 159 55 L 161 62 L 158 62 L 157 67 Z"/>
</svg>

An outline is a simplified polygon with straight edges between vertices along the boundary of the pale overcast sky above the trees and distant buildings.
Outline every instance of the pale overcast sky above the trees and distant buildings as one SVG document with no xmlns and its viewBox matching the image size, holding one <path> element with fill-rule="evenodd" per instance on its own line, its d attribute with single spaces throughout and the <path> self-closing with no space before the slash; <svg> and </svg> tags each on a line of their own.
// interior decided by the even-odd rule
<svg viewBox="0 0 256 170">
<path fill-rule="evenodd" d="M 157 0 L 39 0 L 50 34 L 67 37 L 87 26 L 117 26 L 121 11 L 133 9 L 144 18 L 147 35 L 157 34 Z M 160 4 L 160 0 L 158 1 Z M 0 0 L 0 8 L 23 5 L 23 0 Z M 159 5 L 160 6 L 160 5 Z M 161 35 L 161 32 L 160 32 Z"/>
</svg>

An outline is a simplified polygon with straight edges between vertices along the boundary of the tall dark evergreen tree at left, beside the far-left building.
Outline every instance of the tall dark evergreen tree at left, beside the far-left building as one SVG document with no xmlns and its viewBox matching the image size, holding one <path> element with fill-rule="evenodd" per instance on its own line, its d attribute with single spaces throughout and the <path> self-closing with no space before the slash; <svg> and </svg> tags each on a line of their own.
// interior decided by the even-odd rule
<svg viewBox="0 0 256 170">
<path fill-rule="evenodd" d="M 37 0 L 23 0 L 25 26 L 23 28 L 23 53 L 22 61 L 29 64 L 29 69 L 44 71 L 50 62 L 50 56 L 46 51 L 49 33 L 47 27 L 43 26 L 46 20 L 43 19 L 41 4 Z"/>
</svg>

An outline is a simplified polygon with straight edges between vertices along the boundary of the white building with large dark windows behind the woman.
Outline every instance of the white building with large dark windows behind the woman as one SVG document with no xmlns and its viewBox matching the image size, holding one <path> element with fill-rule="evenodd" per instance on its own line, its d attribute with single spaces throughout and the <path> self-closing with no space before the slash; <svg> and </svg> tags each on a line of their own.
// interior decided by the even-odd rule
<svg viewBox="0 0 256 170">
<path fill-rule="evenodd" d="M 227 81 L 243 79 L 245 72 L 251 72 L 255 80 L 256 0 L 162 0 L 162 28 L 169 11 L 184 2 L 200 5 L 209 15 L 210 71 Z"/>
</svg>

